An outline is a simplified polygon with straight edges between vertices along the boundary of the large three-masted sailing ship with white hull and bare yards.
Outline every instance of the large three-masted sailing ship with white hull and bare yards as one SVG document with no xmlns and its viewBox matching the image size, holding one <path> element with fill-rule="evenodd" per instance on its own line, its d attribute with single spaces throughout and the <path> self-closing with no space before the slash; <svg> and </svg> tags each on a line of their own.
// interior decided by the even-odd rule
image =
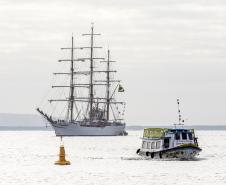
<svg viewBox="0 0 226 185">
<path fill-rule="evenodd" d="M 94 36 L 97 35 L 100 34 L 94 33 L 92 25 L 91 33 L 83 34 L 90 36 L 89 47 L 75 47 L 72 36 L 71 47 L 61 48 L 70 51 L 70 59 L 59 60 L 69 62 L 70 71 L 54 75 L 66 75 L 69 79 L 65 84 L 54 85 L 52 88 L 66 89 L 66 96 L 62 99 L 50 99 L 49 103 L 59 105 L 62 110 L 66 107 L 66 111 L 47 114 L 43 109 L 37 108 L 55 130 L 56 136 L 127 135 L 123 119 L 125 102 L 116 101 L 116 94 L 124 92 L 124 89 L 120 80 L 113 78 L 116 71 L 111 69 L 111 63 L 115 61 L 110 59 L 110 50 L 106 60 L 94 56 L 95 49 L 102 48 L 94 45 Z M 88 50 L 89 57 L 75 57 L 79 55 L 75 51 L 85 49 Z M 98 66 L 102 68 L 99 69 Z"/>
</svg>

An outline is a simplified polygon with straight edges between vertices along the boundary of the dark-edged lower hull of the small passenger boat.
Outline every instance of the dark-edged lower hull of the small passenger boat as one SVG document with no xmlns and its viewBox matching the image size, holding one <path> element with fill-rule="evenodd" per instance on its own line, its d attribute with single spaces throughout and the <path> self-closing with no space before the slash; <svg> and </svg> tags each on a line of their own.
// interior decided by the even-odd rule
<svg viewBox="0 0 226 185">
<path fill-rule="evenodd" d="M 158 152 L 149 152 L 137 150 L 137 153 L 141 156 L 146 156 L 150 158 L 158 159 L 192 159 L 201 152 L 201 149 L 198 146 L 178 146 L 171 149 L 166 149 Z"/>
</svg>

